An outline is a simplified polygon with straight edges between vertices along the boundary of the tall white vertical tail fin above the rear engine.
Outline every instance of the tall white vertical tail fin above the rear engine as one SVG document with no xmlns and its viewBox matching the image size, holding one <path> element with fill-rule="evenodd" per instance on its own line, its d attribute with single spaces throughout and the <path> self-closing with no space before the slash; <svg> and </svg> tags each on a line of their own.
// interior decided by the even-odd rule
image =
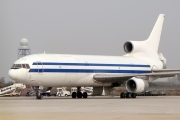
<svg viewBox="0 0 180 120">
<path fill-rule="evenodd" d="M 158 48 L 159 48 L 161 31 L 162 31 L 163 22 L 164 22 L 164 16 L 165 16 L 165 14 L 159 15 L 149 38 L 146 40 L 146 42 L 149 45 L 151 45 L 155 51 L 158 51 Z"/>
</svg>

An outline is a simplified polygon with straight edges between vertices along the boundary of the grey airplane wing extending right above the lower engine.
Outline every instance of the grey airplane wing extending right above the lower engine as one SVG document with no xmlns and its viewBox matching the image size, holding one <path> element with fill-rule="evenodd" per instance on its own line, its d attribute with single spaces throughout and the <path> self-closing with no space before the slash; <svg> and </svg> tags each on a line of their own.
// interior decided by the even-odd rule
<svg viewBox="0 0 180 120">
<path fill-rule="evenodd" d="M 160 69 L 153 70 L 152 73 L 143 73 L 143 74 L 95 74 L 93 78 L 102 83 L 113 83 L 113 82 L 125 82 L 132 77 L 174 77 L 175 75 L 180 74 L 180 70 L 172 69 Z"/>
</svg>

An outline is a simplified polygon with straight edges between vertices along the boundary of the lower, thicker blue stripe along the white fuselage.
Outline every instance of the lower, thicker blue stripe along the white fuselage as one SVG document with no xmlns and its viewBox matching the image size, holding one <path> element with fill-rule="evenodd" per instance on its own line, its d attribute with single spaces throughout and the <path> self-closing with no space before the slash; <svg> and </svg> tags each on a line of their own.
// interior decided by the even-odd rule
<svg viewBox="0 0 180 120">
<path fill-rule="evenodd" d="M 30 69 L 29 72 L 66 73 L 150 73 L 149 70 L 98 70 L 98 69 Z"/>
</svg>

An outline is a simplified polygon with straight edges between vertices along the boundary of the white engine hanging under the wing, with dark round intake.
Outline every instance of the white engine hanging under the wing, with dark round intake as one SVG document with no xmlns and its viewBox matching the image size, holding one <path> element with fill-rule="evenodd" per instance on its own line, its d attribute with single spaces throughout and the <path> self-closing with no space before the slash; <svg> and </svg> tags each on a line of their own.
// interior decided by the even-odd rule
<svg viewBox="0 0 180 120">
<path fill-rule="evenodd" d="M 126 89 L 128 92 L 141 93 L 147 90 L 149 83 L 147 80 L 140 78 L 131 78 L 126 83 Z"/>
</svg>

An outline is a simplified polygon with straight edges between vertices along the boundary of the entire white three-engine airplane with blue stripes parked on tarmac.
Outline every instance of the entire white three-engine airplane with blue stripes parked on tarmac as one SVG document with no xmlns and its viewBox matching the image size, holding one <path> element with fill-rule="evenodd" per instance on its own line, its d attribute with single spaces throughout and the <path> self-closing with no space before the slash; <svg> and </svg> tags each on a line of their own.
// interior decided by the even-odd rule
<svg viewBox="0 0 180 120">
<path fill-rule="evenodd" d="M 180 70 L 167 69 L 165 57 L 158 52 L 164 17 L 159 15 L 148 39 L 125 42 L 123 56 L 32 54 L 15 61 L 8 75 L 31 85 L 36 99 L 42 99 L 41 93 L 52 87 L 77 87 L 72 98 L 87 98 L 82 86 L 102 94 L 103 87 L 120 85 L 127 89 L 120 98 L 136 98 L 150 81 L 180 74 Z"/>
</svg>

